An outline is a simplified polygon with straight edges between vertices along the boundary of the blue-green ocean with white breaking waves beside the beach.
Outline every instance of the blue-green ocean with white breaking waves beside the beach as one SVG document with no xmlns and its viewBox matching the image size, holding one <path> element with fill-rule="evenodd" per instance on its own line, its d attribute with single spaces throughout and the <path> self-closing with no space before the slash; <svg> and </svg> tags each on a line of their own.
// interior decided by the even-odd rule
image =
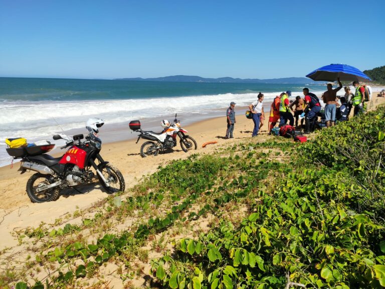
<svg viewBox="0 0 385 289">
<path fill-rule="evenodd" d="M 324 85 L 306 86 L 319 95 L 326 90 Z M 224 115 L 231 101 L 236 102 L 237 107 L 247 106 L 257 99 L 260 91 L 267 103 L 286 90 L 292 91 L 292 99 L 302 96 L 303 87 L 300 84 L 0 78 L 0 166 L 12 161 L 5 150 L 6 138 L 25 137 L 32 143 L 52 140 L 52 135 L 57 133 L 71 135 L 83 130 L 86 133 L 87 119 L 99 117 L 105 121 L 101 130 L 110 132 L 107 141 L 128 139 L 136 135 L 122 135 L 127 132 L 119 131 L 127 128 L 130 120 L 139 119 L 142 124 L 148 124 L 142 125 L 146 129 L 160 131 L 156 120 L 172 120 L 175 113 L 185 125 Z"/>
</svg>

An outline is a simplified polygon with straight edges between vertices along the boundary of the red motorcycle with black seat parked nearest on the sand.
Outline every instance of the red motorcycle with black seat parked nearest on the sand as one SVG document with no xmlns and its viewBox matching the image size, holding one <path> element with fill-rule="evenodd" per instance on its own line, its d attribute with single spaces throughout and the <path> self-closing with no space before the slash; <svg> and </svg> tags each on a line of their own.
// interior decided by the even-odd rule
<svg viewBox="0 0 385 289">
<path fill-rule="evenodd" d="M 83 134 L 77 134 L 73 139 L 66 139 L 66 145 L 61 149 L 69 149 L 59 158 L 45 154 L 55 147 L 51 144 L 7 149 L 10 156 L 22 158 L 21 174 L 27 170 L 37 172 L 27 182 L 27 194 L 33 203 L 56 201 L 61 190 L 91 183 L 95 178 L 108 194 L 124 191 L 125 183 L 120 171 L 100 156 L 100 138 L 92 131 L 86 136 L 86 141 L 81 141 L 83 138 Z M 57 134 L 53 139 L 64 138 Z"/>
</svg>

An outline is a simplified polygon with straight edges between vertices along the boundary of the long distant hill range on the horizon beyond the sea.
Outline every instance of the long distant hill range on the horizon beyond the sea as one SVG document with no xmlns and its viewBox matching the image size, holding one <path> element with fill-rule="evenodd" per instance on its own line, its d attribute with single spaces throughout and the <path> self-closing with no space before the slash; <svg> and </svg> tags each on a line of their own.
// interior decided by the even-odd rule
<svg viewBox="0 0 385 289">
<path fill-rule="evenodd" d="M 130 80 L 130 81 L 167 81 L 167 82 L 219 82 L 219 83 L 295 83 L 306 84 L 315 83 L 313 80 L 306 77 L 287 77 L 287 78 L 272 78 L 272 79 L 241 79 L 232 77 L 220 78 L 203 78 L 200 76 L 190 75 L 173 75 L 156 78 L 117 78 L 116 80 Z M 319 81 L 317 83 L 320 83 Z"/>
</svg>

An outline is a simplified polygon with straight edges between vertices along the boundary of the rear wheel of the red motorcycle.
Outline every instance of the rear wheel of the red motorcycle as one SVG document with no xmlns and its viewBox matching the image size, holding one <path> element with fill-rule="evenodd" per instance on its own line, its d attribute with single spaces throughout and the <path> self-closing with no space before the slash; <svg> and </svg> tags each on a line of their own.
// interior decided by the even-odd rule
<svg viewBox="0 0 385 289">
<path fill-rule="evenodd" d="M 27 195 L 31 199 L 32 203 L 51 202 L 59 199 L 59 187 L 36 192 L 36 189 L 39 187 L 55 183 L 55 180 L 50 180 L 50 177 L 51 175 L 36 173 L 29 178 L 27 182 Z"/>
</svg>

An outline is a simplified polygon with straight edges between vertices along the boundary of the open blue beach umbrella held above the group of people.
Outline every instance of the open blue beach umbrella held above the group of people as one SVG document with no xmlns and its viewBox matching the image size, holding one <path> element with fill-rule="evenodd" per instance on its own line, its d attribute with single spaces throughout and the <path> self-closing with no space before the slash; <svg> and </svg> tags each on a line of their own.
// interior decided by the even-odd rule
<svg viewBox="0 0 385 289">
<path fill-rule="evenodd" d="M 359 69 L 346 64 L 330 64 L 322 66 L 306 77 L 315 81 L 335 81 L 337 77 L 341 81 L 371 81 L 371 79 Z"/>
</svg>

